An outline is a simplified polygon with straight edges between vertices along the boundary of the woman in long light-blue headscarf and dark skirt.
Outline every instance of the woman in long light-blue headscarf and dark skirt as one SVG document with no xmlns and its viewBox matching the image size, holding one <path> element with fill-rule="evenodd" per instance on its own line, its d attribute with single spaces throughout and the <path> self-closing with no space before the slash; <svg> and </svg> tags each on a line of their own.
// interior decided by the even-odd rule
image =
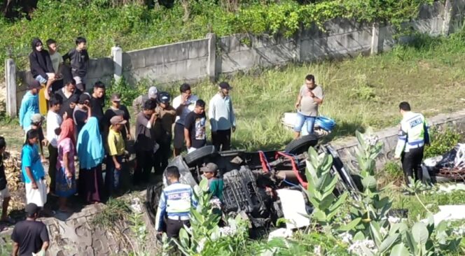
<svg viewBox="0 0 465 256">
<path fill-rule="evenodd" d="M 97 118 L 87 120 L 78 135 L 79 195 L 89 204 L 101 201 L 104 145 Z"/>
</svg>

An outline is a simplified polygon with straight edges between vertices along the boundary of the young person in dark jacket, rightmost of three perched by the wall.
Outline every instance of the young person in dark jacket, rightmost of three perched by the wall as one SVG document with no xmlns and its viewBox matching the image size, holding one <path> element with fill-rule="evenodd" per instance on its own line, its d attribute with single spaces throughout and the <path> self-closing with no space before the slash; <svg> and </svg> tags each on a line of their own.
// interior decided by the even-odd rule
<svg viewBox="0 0 465 256">
<path fill-rule="evenodd" d="M 70 50 L 63 56 L 63 60 L 69 59 L 71 63 L 71 75 L 76 80 L 76 86 L 85 92 L 85 76 L 87 75 L 89 54 L 87 52 L 87 41 L 79 36 L 76 38 L 76 48 Z"/>
</svg>

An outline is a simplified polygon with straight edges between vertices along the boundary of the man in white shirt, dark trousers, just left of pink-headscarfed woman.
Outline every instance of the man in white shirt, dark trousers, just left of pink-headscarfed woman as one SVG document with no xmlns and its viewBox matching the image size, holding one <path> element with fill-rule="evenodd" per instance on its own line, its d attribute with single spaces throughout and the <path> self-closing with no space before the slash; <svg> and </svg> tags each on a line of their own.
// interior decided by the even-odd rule
<svg viewBox="0 0 465 256">
<path fill-rule="evenodd" d="M 58 114 L 62 107 L 62 99 L 55 95 L 48 101 L 50 108 L 47 113 L 47 141 L 48 141 L 48 176 L 50 177 L 50 192 L 55 192 L 55 172 L 58 158 L 58 138 L 63 119 Z"/>
</svg>

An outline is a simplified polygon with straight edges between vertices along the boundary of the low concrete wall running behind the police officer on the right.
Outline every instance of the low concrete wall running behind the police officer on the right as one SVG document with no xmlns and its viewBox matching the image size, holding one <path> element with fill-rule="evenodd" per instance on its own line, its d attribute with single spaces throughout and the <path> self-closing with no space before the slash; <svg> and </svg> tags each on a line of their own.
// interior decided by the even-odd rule
<svg viewBox="0 0 465 256">
<path fill-rule="evenodd" d="M 436 115 L 433 118 L 428 119 L 431 125 L 436 125 L 438 127 L 445 127 L 450 125 L 457 129 L 461 134 L 465 134 L 465 109 L 450 114 L 440 114 Z M 384 163 L 394 159 L 394 149 L 397 144 L 397 133 L 398 127 L 391 127 L 387 129 L 382 129 L 377 131 L 375 135 L 384 143 L 384 147 L 380 156 L 377 158 L 376 166 L 377 169 L 382 169 Z M 343 141 L 333 141 L 330 143 L 333 148 L 338 151 L 342 162 L 345 166 L 349 166 L 352 170 L 358 170 L 356 164 L 356 147 L 357 147 L 356 138 L 347 138 Z"/>
</svg>

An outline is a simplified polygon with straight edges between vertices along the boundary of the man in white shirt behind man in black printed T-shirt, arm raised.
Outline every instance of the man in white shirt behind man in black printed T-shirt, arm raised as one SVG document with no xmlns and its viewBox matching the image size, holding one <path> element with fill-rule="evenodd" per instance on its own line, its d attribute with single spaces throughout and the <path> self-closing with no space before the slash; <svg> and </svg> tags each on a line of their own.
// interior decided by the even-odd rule
<svg viewBox="0 0 465 256">
<path fill-rule="evenodd" d="M 174 157 L 181 154 L 184 145 L 184 120 L 188 113 L 194 110 L 198 97 L 192 94 L 190 85 L 183 83 L 179 88 L 181 95 L 173 99 L 173 108 L 176 109 L 176 123 L 174 125 Z"/>
</svg>

